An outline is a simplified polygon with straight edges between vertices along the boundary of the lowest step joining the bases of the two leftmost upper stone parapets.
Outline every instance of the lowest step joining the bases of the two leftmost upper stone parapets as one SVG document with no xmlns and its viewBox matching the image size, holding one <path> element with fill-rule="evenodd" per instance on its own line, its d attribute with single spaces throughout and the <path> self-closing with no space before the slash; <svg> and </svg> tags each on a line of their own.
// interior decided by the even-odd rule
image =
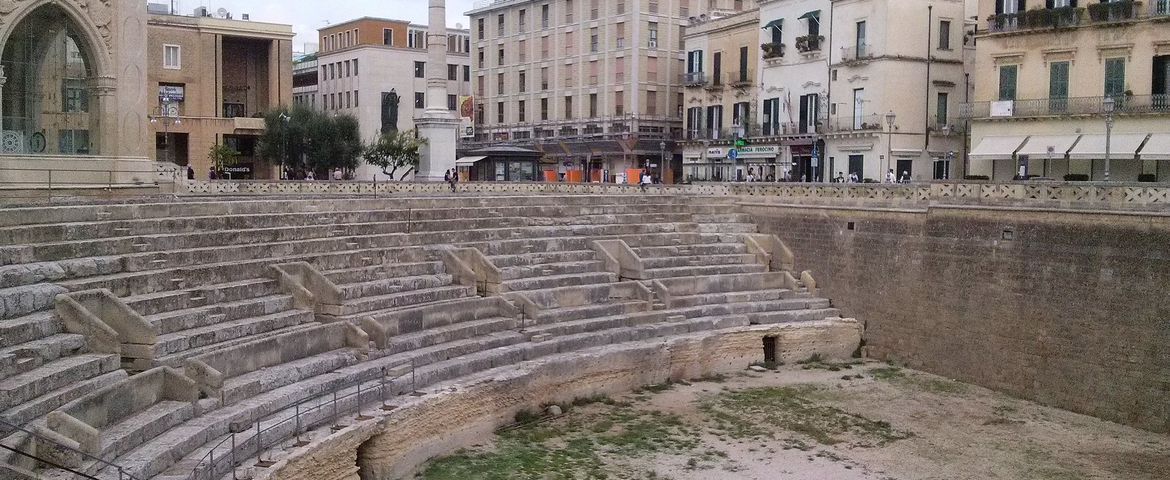
<svg viewBox="0 0 1170 480">
<path fill-rule="evenodd" d="M 173 356 L 191 349 L 206 347 L 222 348 L 225 342 L 253 341 L 259 336 L 283 330 L 302 323 L 314 322 L 314 313 L 305 310 L 282 310 L 269 315 L 225 321 L 179 330 L 158 337 L 153 354 L 156 358 Z"/>
</svg>

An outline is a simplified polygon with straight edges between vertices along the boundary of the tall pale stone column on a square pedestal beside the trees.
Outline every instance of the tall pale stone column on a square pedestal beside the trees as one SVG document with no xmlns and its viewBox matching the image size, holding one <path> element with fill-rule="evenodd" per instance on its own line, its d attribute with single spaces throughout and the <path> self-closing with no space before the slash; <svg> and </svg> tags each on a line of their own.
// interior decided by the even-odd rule
<svg viewBox="0 0 1170 480">
<path fill-rule="evenodd" d="M 427 97 L 426 109 L 414 118 L 419 136 L 427 139 L 422 148 L 418 181 L 441 181 L 443 172 L 455 167 L 455 138 L 459 118 L 447 110 L 447 2 L 431 0 L 427 25 Z"/>
</svg>

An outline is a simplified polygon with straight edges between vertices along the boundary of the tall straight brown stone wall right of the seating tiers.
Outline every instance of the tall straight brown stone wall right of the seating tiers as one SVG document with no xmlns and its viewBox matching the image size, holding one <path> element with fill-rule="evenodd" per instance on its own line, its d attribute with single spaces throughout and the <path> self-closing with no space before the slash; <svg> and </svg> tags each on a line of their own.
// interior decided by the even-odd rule
<svg viewBox="0 0 1170 480">
<path fill-rule="evenodd" d="M 746 204 L 872 355 L 1170 432 L 1170 215 Z"/>
</svg>

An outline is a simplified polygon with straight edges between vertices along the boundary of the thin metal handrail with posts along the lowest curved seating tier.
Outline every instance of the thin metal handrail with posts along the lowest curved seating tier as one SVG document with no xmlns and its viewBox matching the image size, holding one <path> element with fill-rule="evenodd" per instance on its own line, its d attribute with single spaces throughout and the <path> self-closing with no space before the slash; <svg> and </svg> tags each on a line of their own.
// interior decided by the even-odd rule
<svg viewBox="0 0 1170 480">
<path fill-rule="evenodd" d="M 376 386 L 376 389 L 380 390 L 381 403 L 383 403 L 383 407 L 385 409 L 386 407 L 386 384 L 388 382 L 393 382 L 393 380 L 397 380 L 397 379 L 402 378 L 402 377 L 406 376 L 406 373 L 402 373 L 402 375 L 399 375 L 398 377 L 388 379 L 388 382 L 387 382 L 387 371 L 397 369 L 397 368 L 400 368 L 400 366 L 406 366 L 407 364 L 411 365 L 411 372 L 410 372 L 410 375 L 411 375 L 411 390 L 413 391 L 414 388 L 415 388 L 415 385 L 414 385 L 414 382 L 415 382 L 415 376 L 414 376 L 415 365 L 414 365 L 414 358 L 411 358 L 410 361 L 402 361 L 402 362 L 399 362 L 399 363 L 397 363 L 394 365 L 383 366 L 381 368 L 381 376 L 378 379 L 376 379 L 376 380 L 347 382 L 347 383 L 344 383 L 342 385 L 338 385 L 336 389 L 332 389 L 330 391 L 319 393 L 319 395 L 314 396 L 314 397 L 305 398 L 305 399 L 303 399 L 301 402 L 297 402 L 296 404 L 294 404 L 291 406 L 285 406 L 284 409 L 269 414 L 267 418 L 280 416 L 281 413 L 288 413 L 289 410 L 292 411 L 292 414 L 290 417 L 283 419 L 283 420 L 280 420 L 280 421 L 276 421 L 276 423 L 269 425 L 268 427 L 263 427 L 263 425 L 262 425 L 262 423 L 264 420 L 263 418 L 256 419 L 254 428 L 252 427 L 252 424 L 249 423 L 249 427 L 247 428 L 247 431 L 254 432 L 254 433 L 252 434 L 252 437 L 243 438 L 242 439 L 242 445 L 247 445 L 248 443 L 254 441 L 256 444 L 255 448 L 248 448 L 248 451 L 249 452 L 254 451 L 255 454 L 256 454 L 256 459 L 257 460 L 261 460 L 261 455 L 263 454 L 264 448 L 267 448 L 268 446 L 271 446 L 271 445 L 280 444 L 281 441 L 288 440 L 291 437 L 296 437 L 297 444 L 303 445 L 302 441 L 301 441 L 301 433 L 302 433 L 302 431 L 304 431 L 305 427 L 312 427 L 315 425 L 319 425 L 321 421 L 318 420 L 317 424 L 314 424 L 311 421 L 309 421 L 307 424 L 303 424 L 302 423 L 302 417 L 308 416 L 308 414 L 314 413 L 314 412 L 319 412 L 323 409 L 325 409 L 326 406 L 331 406 L 332 407 L 332 412 L 331 412 L 330 417 L 331 417 L 331 420 L 333 421 L 333 427 L 335 428 L 338 428 L 338 426 L 337 426 L 337 419 L 338 419 L 338 416 L 342 414 L 342 413 L 349 413 L 350 411 L 357 410 L 358 411 L 358 417 L 362 418 L 363 417 L 362 416 L 362 385 L 366 384 L 366 383 L 376 383 L 376 384 L 378 384 Z M 338 392 L 352 389 L 355 386 L 357 388 L 356 392 L 351 392 L 351 393 L 338 396 Z M 322 403 L 321 400 L 324 399 L 324 398 L 326 398 L 326 397 L 331 397 L 331 399 L 328 403 Z M 355 402 L 353 406 L 352 407 L 342 407 L 339 410 L 338 406 L 337 406 L 337 402 L 338 400 L 345 400 L 345 399 L 351 398 L 351 397 L 357 397 L 357 400 Z M 316 405 L 314 405 L 311 407 L 308 407 L 308 409 L 302 409 L 303 405 L 309 404 L 309 403 L 314 403 L 314 402 L 316 402 Z M 280 427 L 287 425 L 290 421 L 295 421 L 296 423 L 296 425 L 294 426 L 294 430 L 292 430 L 292 434 L 285 434 L 285 436 L 282 436 L 282 437 L 270 438 L 270 439 L 268 439 L 269 441 L 267 441 L 267 443 L 263 441 L 264 440 L 263 434 L 266 432 L 273 432 L 276 428 L 280 428 Z M 236 478 L 235 476 L 235 467 L 239 466 L 239 464 L 240 464 L 240 461 L 239 461 L 240 458 L 236 454 L 238 453 L 236 451 L 240 450 L 239 447 L 241 446 L 236 441 L 238 440 L 236 439 L 236 434 L 238 433 L 243 433 L 245 430 L 240 430 L 240 428 L 230 428 L 230 430 L 232 431 L 229 432 L 228 437 L 223 438 L 218 444 L 215 444 L 215 446 L 211 447 L 211 450 L 208 450 L 207 453 L 204 454 L 204 457 L 199 459 L 199 461 L 195 464 L 195 466 L 191 469 L 191 474 L 187 476 L 190 480 L 200 480 L 200 479 L 209 479 L 211 480 L 211 479 L 219 478 L 219 476 L 216 476 L 218 467 L 220 465 L 222 465 L 225 461 L 228 461 L 229 462 L 228 465 L 230 465 L 232 478 L 233 479 Z M 228 443 L 230 443 L 230 450 L 226 454 L 220 454 L 219 459 L 216 460 L 215 450 L 222 447 L 225 444 L 228 444 Z M 267 444 L 267 446 L 266 446 L 266 444 Z M 247 457 L 245 457 L 245 458 L 247 458 Z M 220 473 L 220 475 L 223 475 L 223 474 L 226 474 L 226 472 L 225 473 Z M 204 475 L 206 475 L 206 476 L 204 476 Z"/>
</svg>

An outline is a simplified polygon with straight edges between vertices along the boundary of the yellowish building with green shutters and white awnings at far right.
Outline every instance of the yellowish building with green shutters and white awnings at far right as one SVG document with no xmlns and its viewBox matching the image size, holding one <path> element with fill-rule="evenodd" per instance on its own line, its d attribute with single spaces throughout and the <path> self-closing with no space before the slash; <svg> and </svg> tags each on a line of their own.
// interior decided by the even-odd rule
<svg viewBox="0 0 1170 480">
<path fill-rule="evenodd" d="M 972 174 L 1170 181 L 1170 1 L 978 5 Z"/>
</svg>

